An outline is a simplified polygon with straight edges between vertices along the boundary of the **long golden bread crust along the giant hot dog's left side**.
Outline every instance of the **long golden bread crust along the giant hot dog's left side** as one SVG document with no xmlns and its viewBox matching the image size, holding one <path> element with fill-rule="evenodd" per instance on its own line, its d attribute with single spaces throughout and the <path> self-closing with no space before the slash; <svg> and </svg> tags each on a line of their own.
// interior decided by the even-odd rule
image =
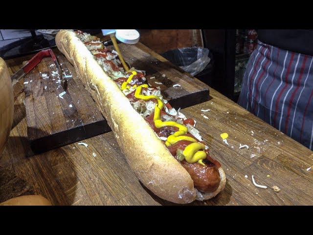
<svg viewBox="0 0 313 235">
<path fill-rule="evenodd" d="M 128 98 L 103 71 L 75 33 L 62 30 L 56 35 L 55 41 L 107 119 L 138 179 L 165 200 L 180 204 L 194 201 L 197 190 L 188 172 L 133 109 Z"/>
</svg>

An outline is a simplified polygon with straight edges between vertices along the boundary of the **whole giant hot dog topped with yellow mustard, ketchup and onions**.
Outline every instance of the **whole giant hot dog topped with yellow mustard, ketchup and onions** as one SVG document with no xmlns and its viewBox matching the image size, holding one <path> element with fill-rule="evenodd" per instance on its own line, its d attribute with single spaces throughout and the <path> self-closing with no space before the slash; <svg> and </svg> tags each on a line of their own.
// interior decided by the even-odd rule
<svg viewBox="0 0 313 235">
<path fill-rule="evenodd" d="M 206 200 L 223 190 L 224 171 L 210 157 L 195 121 L 149 86 L 144 72 L 124 71 L 114 51 L 81 31 L 60 31 L 56 45 L 74 66 L 147 188 L 181 204 Z"/>
</svg>

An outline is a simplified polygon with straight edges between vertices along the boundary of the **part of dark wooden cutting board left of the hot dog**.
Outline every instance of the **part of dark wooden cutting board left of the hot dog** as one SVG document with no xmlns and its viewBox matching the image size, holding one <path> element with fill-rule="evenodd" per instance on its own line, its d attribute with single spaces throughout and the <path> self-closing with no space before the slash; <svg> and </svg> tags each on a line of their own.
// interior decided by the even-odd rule
<svg viewBox="0 0 313 235">
<path fill-rule="evenodd" d="M 27 137 L 34 153 L 111 131 L 73 67 L 63 55 L 57 57 L 67 76 L 63 98 L 59 94 L 65 90 L 50 57 L 24 77 Z"/>
</svg>

